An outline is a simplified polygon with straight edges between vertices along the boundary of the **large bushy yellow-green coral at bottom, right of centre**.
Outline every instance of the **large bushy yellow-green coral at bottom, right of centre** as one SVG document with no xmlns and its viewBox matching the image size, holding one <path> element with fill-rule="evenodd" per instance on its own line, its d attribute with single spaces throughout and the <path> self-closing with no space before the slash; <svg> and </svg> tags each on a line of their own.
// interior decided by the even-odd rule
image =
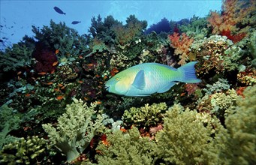
<svg viewBox="0 0 256 165">
<path fill-rule="evenodd" d="M 226 131 L 217 120 L 174 104 L 165 115 L 164 129 L 155 137 L 158 159 L 164 164 L 224 163 L 221 149 L 225 148 Z"/>
</svg>

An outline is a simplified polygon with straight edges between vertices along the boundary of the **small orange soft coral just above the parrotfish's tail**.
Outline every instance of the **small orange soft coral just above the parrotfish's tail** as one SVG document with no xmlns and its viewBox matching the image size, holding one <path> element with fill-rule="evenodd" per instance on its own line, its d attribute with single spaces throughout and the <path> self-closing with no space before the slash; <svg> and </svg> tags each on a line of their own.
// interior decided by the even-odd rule
<svg viewBox="0 0 256 165">
<path fill-rule="evenodd" d="M 194 39 L 189 38 L 185 33 L 180 36 L 179 33 L 174 32 L 173 35 L 169 35 L 170 46 L 175 48 L 174 54 L 179 55 L 179 65 L 185 65 L 185 61 L 188 60 L 189 46 L 193 43 Z"/>
</svg>

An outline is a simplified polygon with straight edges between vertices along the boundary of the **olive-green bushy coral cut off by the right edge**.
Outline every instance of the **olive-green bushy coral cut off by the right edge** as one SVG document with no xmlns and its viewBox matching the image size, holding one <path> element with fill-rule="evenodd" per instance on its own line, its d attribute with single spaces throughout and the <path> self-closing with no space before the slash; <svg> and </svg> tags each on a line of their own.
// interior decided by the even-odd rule
<svg viewBox="0 0 256 165">
<path fill-rule="evenodd" d="M 236 109 L 230 110 L 225 124 L 230 134 L 228 148 L 230 164 L 256 163 L 256 86 L 244 91 L 245 98 L 236 100 Z"/>
</svg>

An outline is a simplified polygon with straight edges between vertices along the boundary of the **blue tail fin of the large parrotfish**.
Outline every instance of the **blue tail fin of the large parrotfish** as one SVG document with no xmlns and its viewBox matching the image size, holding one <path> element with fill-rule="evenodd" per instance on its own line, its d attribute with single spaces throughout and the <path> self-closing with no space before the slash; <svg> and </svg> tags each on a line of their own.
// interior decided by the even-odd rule
<svg viewBox="0 0 256 165">
<path fill-rule="evenodd" d="M 189 62 L 188 64 L 185 64 L 178 68 L 177 71 L 181 71 L 185 74 L 185 77 L 182 79 L 183 83 L 200 83 L 201 80 L 197 79 L 196 77 L 196 71 L 194 68 L 194 65 L 196 65 L 197 62 Z"/>
</svg>

